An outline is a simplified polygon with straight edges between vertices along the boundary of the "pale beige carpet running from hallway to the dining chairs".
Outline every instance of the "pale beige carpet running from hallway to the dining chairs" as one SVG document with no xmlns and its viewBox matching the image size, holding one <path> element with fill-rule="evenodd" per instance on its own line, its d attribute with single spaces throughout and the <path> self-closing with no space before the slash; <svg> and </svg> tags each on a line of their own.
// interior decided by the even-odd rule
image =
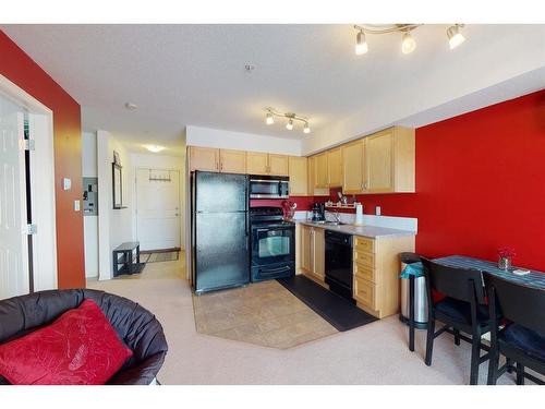
<svg viewBox="0 0 545 409">
<path fill-rule="evenodd" d="M 337 333 L 290 349 L 272 349 L 198 334 L 183 253 L 177 262 L 148 264 L 142 275 L 89 287 L 140 302 L 165 327 L 169 353 L 159 373 L 164 384 L 467 384 L 470 345 L 436 339 L 431 368 L 423 361 L 425 332 L 416 351 L 407 348 L 407 327 L 397 316 Z M 480 384 L 486 383 L 487 363 Z M 500 384 L 512 384 L 504 375 Z M 529 382 L 530 384 L 530 382 Z"/>
</svg>

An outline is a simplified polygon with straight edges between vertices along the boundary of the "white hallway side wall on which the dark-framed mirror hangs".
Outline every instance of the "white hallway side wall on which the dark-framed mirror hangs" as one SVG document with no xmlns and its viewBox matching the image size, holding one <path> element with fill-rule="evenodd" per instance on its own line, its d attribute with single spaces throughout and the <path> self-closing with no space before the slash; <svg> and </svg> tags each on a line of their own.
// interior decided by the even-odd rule
<svg viewBox="0 0 545 409">
<path fill-rule="evenodd" d="M 113 151 L 119 153 L 122 169 L 123 206 L 113 209 L 112 161 Z M 112 277 L 112 250 L 124 241 L 134 240 L 131 184 L 134 180 L 131 155 L 123 144 L 109 132 L 97 132 L 97 173 L 98 173 L 98 248 L 99 279 Z"/>
</svg>

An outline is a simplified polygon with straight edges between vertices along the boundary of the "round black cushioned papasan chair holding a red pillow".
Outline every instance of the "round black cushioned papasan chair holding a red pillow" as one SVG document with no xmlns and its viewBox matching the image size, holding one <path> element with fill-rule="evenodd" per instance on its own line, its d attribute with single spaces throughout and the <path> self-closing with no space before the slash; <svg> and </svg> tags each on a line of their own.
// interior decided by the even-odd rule
<svg viewBox="0 0 545 409">
<path fill-rule="evenodd" d="M 0 301 L 0 344 L 50 324 L 63 312 L 94 300 L 133 357 L 109 381 L 112 385 L 148 385 L 156 378 L 168 345 L 161 324 L 137 303 L 104 291 L 74 289 L 39 291 Z M 0 384 L 9 382 L 0 375 Z"/>
</svg>

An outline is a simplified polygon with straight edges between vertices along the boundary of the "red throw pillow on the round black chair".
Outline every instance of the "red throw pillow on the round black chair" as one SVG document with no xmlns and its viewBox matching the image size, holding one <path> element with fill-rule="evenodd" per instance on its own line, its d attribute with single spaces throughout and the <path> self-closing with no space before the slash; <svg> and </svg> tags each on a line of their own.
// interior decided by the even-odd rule
<svg viewBox="0 0 545 409">
<path fill-rule="evenodd" d="M 0 345 L 0 375 L 15 385 L 101 385 L 133 352 L 93 300 L 51 325 Z"/>
</svg>

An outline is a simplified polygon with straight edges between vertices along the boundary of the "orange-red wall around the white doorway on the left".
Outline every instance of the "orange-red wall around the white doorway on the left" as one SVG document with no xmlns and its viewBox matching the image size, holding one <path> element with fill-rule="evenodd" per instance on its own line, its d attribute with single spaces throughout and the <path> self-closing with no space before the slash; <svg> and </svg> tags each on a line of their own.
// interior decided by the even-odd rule
<svg viewBox="0 0 545 409">
<path fill-rule="evenodd" d="M 80 105 L 0 31 L 0 74 L 53 111 L 59 288 L 85 287 L 83 216 L 73 210 L 82 195 Z M 62 178 L 72 179 L 63 191 Z"/>
</svg>

